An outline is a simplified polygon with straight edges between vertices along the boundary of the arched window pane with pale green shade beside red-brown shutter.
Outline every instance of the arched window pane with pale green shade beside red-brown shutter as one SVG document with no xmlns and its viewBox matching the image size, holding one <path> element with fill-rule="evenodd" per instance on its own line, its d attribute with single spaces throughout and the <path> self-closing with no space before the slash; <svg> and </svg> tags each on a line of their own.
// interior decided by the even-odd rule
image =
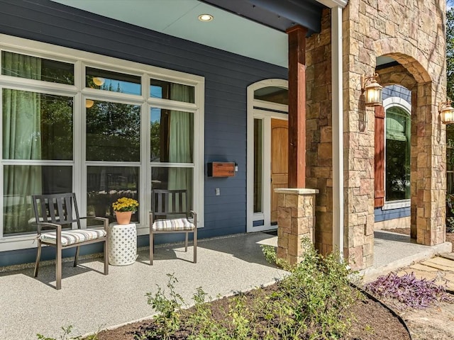
<svg viewBox="0 0 454 340">
<path fill-rule="evenodd" d="M 410 198 L 409 113 L 398 106 L 386 111 L 386 200 Z"/>
</svg>

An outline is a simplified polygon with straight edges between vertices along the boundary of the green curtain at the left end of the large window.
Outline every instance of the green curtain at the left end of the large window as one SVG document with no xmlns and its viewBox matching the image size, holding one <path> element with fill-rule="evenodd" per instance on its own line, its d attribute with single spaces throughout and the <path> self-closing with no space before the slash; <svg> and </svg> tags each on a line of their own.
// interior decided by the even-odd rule
<svg viewBox="0 0 454 340">
<path fill-rule="evenodd" d="M 5 53 L 2 62 L 5 75 L 40 79 L 39 58 Z M 2 100 L 3 159 L 40 159 L 40 94 L 3 89 Z M 34 230 L 30 195 L 41 192 L 40 166 L 4 166 L 4 234 Z"/>
</svg>

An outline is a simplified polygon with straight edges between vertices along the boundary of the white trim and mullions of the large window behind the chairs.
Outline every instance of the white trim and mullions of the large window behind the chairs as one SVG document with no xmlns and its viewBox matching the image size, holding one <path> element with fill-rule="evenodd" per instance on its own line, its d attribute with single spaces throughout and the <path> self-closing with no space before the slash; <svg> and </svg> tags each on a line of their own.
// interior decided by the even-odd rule
<svg viewBox="0 0 454 340">
<path fill-rule="evenodd" d="M 82 195 L 86 193 L 87 165 L 96 164 L 96 162 L 82 162 L 84 157 L 84 125 L 85 110 L 82 103 L 85 98 L 96 97 L 96 99 L 105 99 L 108 101 L 121 101 L 121 103 L 131 103 L 142 106 L 141 134 L 142 140 L 150 140 L 150 129 L 148 124 L 150 120 L 150 108 L 162 107 L 178 109 L 180 111 L 189 111 L 194 114 L 194 163 L 181 164 L 181 166 L 192 167 L 194 169 L 194 210 L 197 212 L 198 227 L 204 227 L 204 77 L 184 72 L 163 69 L 148 64 L 140 64 L 128 60 L 121 60 L 115 57 L 98 55 L 92 52 L 74 50 L 68 47 L 51 45 L 45 42 L 16 38 L 11 35 L 0 34 L 0 50 L 33 55 L 50 60 L 61 62 L 70 62 L 74 64 L 74 85 L 52 84 L 44 81 L 35 81 L 33 79 L 22 79 L 16 77 L 2 76 L 0 74 L 0 87 L 7 86 L 11 89 L 26 89 L 28 91 L 45 92 L 60 94 L 63 96 L 74 97 L 74 160 L 67 162 L 73 169 L 73 188 L 79 198 L 79 210 L 81 215 L 86 213 L 87 197 Z M 94 67 L 107 69 L 114 72 L 138 75 L 142 77 L 142 95 L 109 93 L 109 91 L 95 91 L 84 88 L 85 67 Z M 150 78 L 171 81 L 179 84 L 194 86 L 194 103 L 180 103 L 178 101 L 163 100 L 151 98 L 149 94 Z M 0 98 L 1 107 L 1 98 Z M 82 113 L 82 115 L 80 114 Z M 1 133 L 1 130 L 0 130 Z M 146 136 L 146 137 L 145 137 Z M 0 135 L 1 139 L 1 135 Z M 83 143 L 82 143 L 83 142 Z M 140 162 L 128 162 L 128 166 L 140 166 L 140 183 L 143 187 L 149 188 L 151 181 L 151 163 L 150 162 L 150 143 L 141 143 Z M 75 147 L 80 145 L 81 147 Z M 1 162 L 1 159 L 0 159 Z M 21 161 L 4 161 L 3 164 L 18 164 Z M 56 161 L 53 161 L 54 163 Z M 63 162 L 57 161 L 63 165 Z M 27 162 L 30 164 L 31 162 Z M 52 164 L 52 161 L 37 161 L 37 164 Z M 102 162 L 103 165 L 109 166 L 109 162 Z M 121 164 L 115 164 L 117 166 Z M 156 166 L 153 163 L 153 166 Z M 179 164 L 162 164 L 162 166 L 172 166 Z M 0 186 L 3 187 L 3 166 L 0 166 Z M 138 235 L 148 234 L 149 218 L 148 207 L 151 205 L 151 193 L 148 190 L 140 190 L 140 221 L 138 225 Z M 3 196 L 0 196 L 0 205 L 3 206 Z M 9 251 L 15 249 L 26 249 L 36 246 L 35 234 L 21 235 L 3 235 L 3 221 L 0 221 L 0 251 Z"/>
</svg>

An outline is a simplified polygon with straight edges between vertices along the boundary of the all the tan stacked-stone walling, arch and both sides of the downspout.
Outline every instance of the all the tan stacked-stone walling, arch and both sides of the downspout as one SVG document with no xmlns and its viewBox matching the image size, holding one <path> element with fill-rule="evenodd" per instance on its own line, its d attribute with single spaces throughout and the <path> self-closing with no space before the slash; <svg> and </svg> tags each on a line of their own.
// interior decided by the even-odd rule
<svg viewBox="0 0 454 340">
<path fill-rule="evenodd" d="M 344 254 L 353 268 L 373 264 L 374 110 L 361 100 L 360 75 L 380 73 L 383 85 L 412 91 L 411 227 L 420 244 L 445 234 L 444 1 L 350 0 L 343 9 Z M 306 186 L 316 196 L 315 244 L 333 244 L 331 14 L 306 42 Z M 375 69 L 377 57 L 400 65 Z M 396 67 L 392 69 L 392 67 Z"/>
</svg>

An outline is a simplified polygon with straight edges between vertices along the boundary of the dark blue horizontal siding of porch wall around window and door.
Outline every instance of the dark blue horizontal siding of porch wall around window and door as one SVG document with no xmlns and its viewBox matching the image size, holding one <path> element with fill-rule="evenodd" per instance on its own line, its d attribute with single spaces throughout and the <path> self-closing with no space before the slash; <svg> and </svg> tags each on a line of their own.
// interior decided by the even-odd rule
<svg viewBox="0 0 454 340">
<path fill-rule="evenodd" d="M 263 79 L 287 79 L 287 69 L 50 0 L 0 0 L 0 8 L 0 33 L 205 77 L 204 162 L 236 162 L 238 172 L 217 179 L 206 176 L 205 167 L 205 227 L 199 237 L 245 232 L 246 89 Z M 214 188 L 221 196 L 214 196 Z M 157 243 L 174 240 L 159 236 Z M 147 242 L 139 237 L 139 245 Z M 31 258 L 18 252 L 0 254 L 0 265 Z"/>
</svg>

